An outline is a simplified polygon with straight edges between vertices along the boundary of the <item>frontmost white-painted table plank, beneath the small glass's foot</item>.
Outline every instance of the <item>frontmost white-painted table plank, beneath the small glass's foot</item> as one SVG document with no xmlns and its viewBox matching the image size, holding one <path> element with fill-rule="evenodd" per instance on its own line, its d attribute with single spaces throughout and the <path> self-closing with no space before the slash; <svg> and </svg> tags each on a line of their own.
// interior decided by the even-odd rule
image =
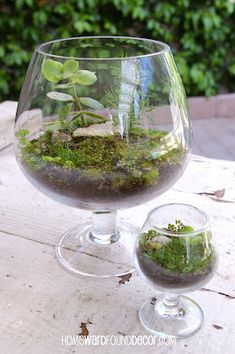
<svg viewBox="0 0 235 354">
<path fill-rule="evenodd" d="M 1 353 L 60 354 L 74 347 L 61 346 L 62 335 L 148 334 L 138 321 L 142 302 L 157 296 L 136 274 L 124 285 L 116 280 L 75 278 L 60 269 L 53 248 L 19 237 L 0 234 L 0 345 Z M 190 296 L 204 309 L 205 325 L 193 338 L 157 352 L 188 354 L 232 353 L 234 348 L 234 300 L 213 292 Z M 221 329 L 214 327 L 220 326 Z M 87 351 L 86 351 L 87 349 Z M 76 348 L 76 353 L 153 353 L 151 347 Z"/>
</svg>

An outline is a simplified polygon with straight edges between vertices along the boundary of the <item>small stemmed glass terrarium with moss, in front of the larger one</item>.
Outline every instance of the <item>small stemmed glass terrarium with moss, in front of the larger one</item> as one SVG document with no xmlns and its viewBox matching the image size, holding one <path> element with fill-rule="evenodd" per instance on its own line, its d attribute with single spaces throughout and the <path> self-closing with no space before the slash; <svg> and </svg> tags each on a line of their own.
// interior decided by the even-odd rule
<svg viewBox="0 0 235 354">
<path fill-rule="evenodd" d="M 153 209 L 136 242 L 140 275 L 165 294 L 146 301 L 139 312 L 145 328 L 176 338 L 203 324 L 201 308 L 180 294 L 201 288 L 213 277 L 218 256 L 207 216 L 180 203 Z"/>
</svg>

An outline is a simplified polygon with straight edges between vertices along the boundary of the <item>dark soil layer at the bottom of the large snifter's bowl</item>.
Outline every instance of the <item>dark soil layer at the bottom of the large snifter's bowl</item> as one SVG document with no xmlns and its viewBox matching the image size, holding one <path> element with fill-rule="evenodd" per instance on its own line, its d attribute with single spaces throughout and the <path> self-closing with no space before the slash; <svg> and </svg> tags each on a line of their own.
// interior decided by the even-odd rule
<svg viewBox="0 0 235 354">
<path fill-rule="evenodd" d="M 142 204 L 162 194 L 173 184 L 184 170 L 186 154 L 182 154 L 176 164 L 162 162 L 159 164 L 159 177 L 152 185 L 141 184 L 132 176 L 123 173 L 124 183 L 113 184 L 115 172 L 105 173 L 102 177 L 84 175 L 79 170 L 65 169 L 52 163 L 44 164 L 40 170 L 33 170 L 24 161 L 20 161 L 24 173 L 31 182 L 51 197 L 74 206 L 89 208 L 89 204 L 113 205 L 127 207 Z M 120 173 L 118 174 L 120 178 Z M 139 182 L 139 183 L 138 183 Z M 62 198 L 62 200 L 61 200 Z"/>
</svg>

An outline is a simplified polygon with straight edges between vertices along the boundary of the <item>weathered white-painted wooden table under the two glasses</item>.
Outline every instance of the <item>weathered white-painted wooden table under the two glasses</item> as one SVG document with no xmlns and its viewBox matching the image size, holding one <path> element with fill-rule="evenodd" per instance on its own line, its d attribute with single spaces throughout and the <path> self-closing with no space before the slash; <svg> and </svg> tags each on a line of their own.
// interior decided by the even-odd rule
<svg viewBox="0 0 235 354">
<path fill-rule="evenodd" d="M 94 280 L 60 268 L 57 240 L 90 214 L 50 200 L 24 178 L 8 146 L 15 109 L 12 102 L 0 105 L 0 354 L 235 353 L 235 162 L 192 156 L 174 188 L 119 213 L 138 226 L 163 202 L 191 203 L 209 214 L 220 264 L 205 288 L 189 294 L 204 310 L 201 331 L 171 346 L 78 346 L 69 337 L 65 345 L 65 336 L 81 333 L 148 335 L 138 309 L 158 294 L 137 274 Z"/>
</svg>

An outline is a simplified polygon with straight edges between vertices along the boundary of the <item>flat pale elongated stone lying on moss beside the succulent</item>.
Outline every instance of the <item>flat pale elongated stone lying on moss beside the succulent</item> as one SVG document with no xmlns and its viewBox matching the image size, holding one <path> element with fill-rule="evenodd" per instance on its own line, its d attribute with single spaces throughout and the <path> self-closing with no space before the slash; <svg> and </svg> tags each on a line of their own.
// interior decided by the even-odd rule
<svg viewBox="0 0 235 354">
<path fill-rule="evenodd" d="M 112 122 L 92 124 L 87 128 L 78 128 L 74 131 L 73 137 L 79 136 L 110 136 L 118 133 L 118 127 Z"/>
</svg>

